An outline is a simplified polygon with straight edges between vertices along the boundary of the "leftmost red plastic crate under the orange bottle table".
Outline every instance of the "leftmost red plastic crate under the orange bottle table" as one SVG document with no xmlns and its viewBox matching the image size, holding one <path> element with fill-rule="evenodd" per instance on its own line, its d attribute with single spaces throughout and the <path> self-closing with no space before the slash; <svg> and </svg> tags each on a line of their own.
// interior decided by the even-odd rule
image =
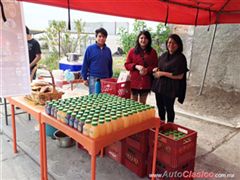
<svg viewBox="0 0 240 180">
<path fill-rule="evenodd" d="M 111 159 L 122 164 L 124 143 L 125 143 L 124 140 L 122 140 L 122 141 L 117 141 L 111 144 L 110 146 L 107 146 L 105 148 L 105 154 Z"/>
</svg>

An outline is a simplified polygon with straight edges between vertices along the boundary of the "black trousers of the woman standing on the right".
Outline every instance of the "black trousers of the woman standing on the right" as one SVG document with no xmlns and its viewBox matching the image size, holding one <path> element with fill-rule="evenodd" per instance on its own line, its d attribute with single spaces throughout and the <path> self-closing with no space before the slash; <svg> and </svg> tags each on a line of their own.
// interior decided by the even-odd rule
<svg viewBox="0 0 240 180">
<path fill-rule="evenodd" d="M 165 114 L 167 112 L 167 121 L 174 122 L 174 102 L 175 98 L 167 97 L 159 93 L 155 93 L 156 103 L 158 107 L 158 115 L 162 121 L 165 120 Z"/>
</svg>

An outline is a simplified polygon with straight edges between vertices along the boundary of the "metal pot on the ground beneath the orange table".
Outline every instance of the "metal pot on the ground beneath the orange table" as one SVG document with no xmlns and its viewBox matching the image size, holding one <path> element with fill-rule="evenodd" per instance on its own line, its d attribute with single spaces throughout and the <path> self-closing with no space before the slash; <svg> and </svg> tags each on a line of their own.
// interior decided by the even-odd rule
<svg viewBox="0 0 240 180">
<path fill-rule="evenodd" d="M 56 138 L 59 147 L 67 148 L 75 144 L 75 141 L 64 134 L 62 131 L 55 131 L 54 137 Z"/>
</svg>

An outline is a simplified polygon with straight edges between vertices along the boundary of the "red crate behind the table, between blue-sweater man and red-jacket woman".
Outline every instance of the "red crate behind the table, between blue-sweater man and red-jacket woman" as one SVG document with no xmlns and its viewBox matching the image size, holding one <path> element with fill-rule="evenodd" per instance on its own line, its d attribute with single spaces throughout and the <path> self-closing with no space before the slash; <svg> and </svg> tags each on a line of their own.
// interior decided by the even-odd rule
<svg viewBox="0 0 240 180">
<path fill-rule="evenodd" d="M 130 98 L 130 81 L 117 83 L 116 78 L 101 79 L 102 93 L 114 94 L 123 98 Z"/>
</svg>

